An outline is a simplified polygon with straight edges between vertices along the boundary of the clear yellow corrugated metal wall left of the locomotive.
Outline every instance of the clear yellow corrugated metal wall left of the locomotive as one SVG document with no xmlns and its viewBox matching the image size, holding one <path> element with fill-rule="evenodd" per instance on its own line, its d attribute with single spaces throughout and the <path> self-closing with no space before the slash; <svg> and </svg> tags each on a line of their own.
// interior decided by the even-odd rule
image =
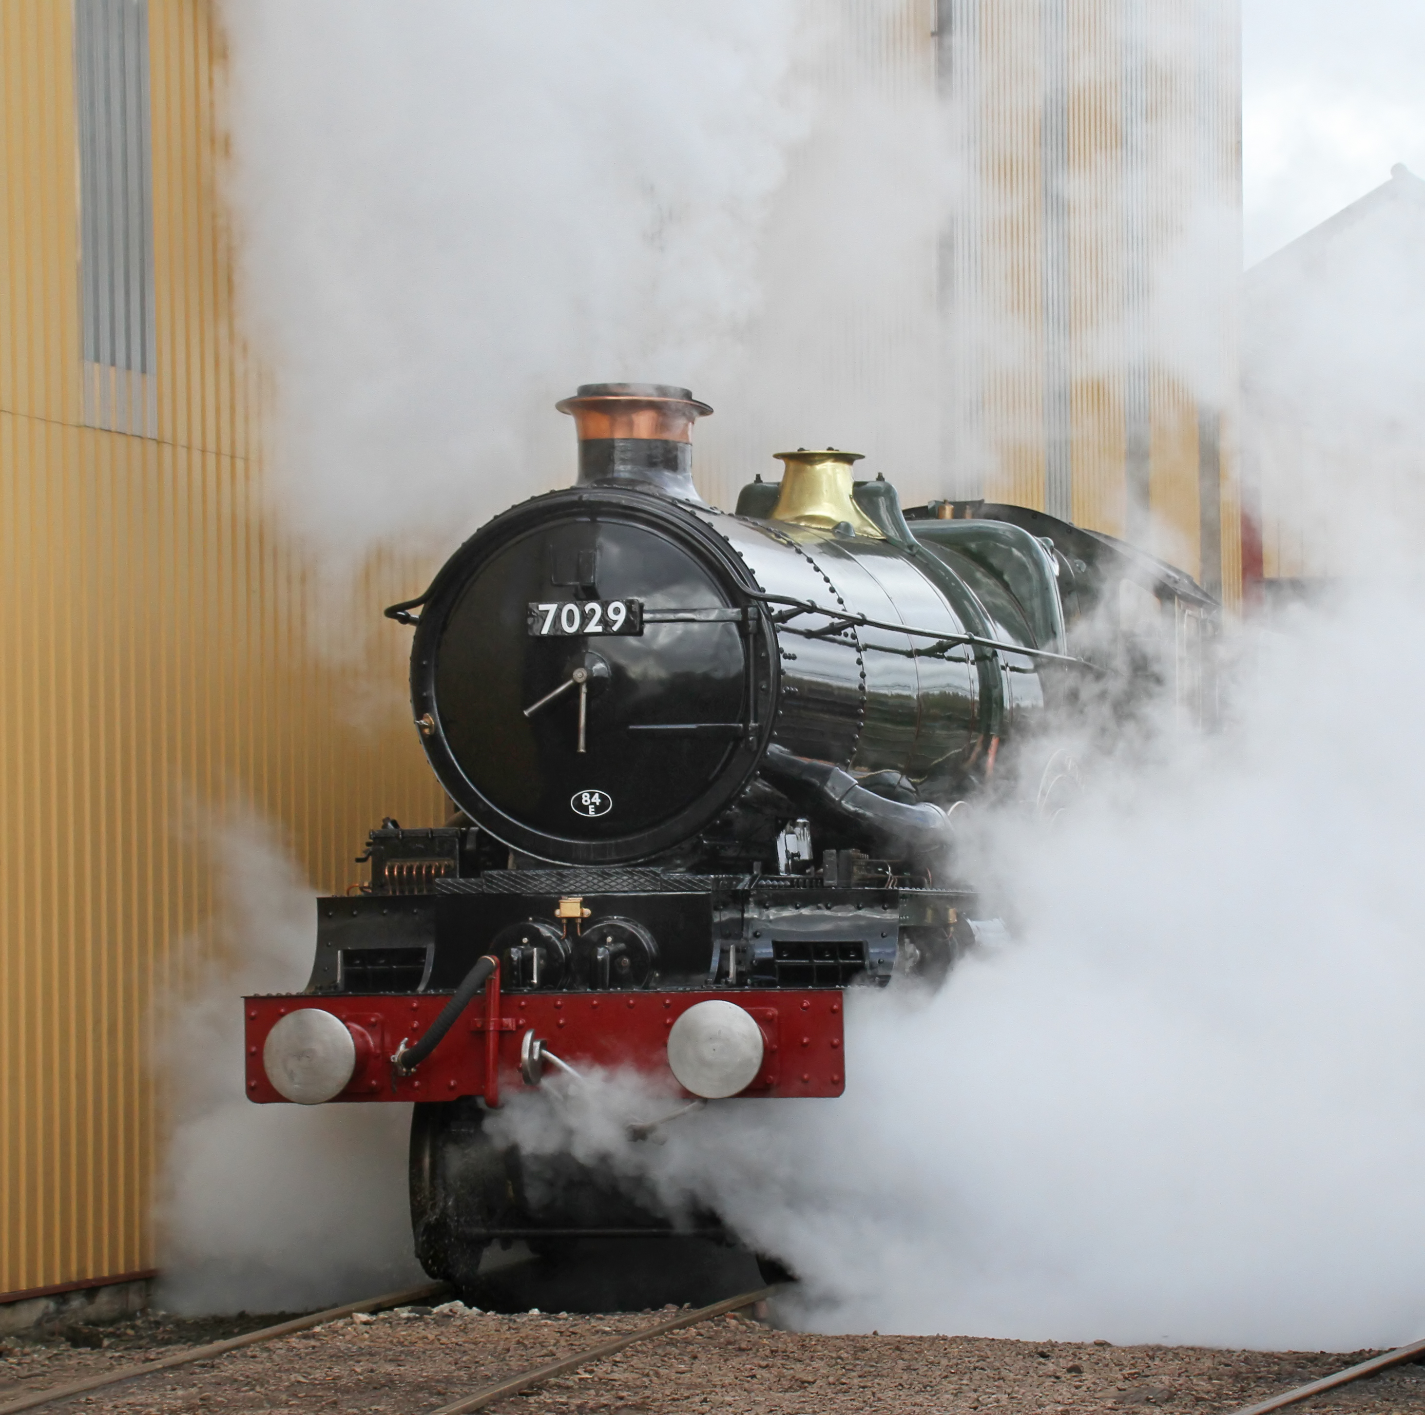
<svg viewBox="0 0 1425 1415">
<path fill-rule="evenodd" d="M 154 1264 L 152 1007 L 207 958 L 212 822 L 333 889 L 383 814 L 442 814 L 376 617 L 420 573 L 372 567 L 372 647 L 315 651 L 231 321 L 219 36 L 202 0 L 148 26 L 157 437 L 83 426 L 73 13 L 0 0 L 0 1297 Z"/>
</svg>

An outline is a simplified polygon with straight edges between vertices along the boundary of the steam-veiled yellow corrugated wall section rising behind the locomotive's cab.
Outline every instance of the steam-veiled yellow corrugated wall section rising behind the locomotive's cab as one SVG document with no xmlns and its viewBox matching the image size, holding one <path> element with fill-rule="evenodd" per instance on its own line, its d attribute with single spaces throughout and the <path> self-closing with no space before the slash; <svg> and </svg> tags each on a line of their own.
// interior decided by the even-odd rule
<svg viewBox="0 0 1425 1415">
<path fill-rule="evenodd" d="M 1214 252 L 1235 252 L 1228 241 L 1183 244 L 1194 224 L 1231 219 L 1238 199 L 1233 0 L 939 0 L 936 11 L 942 93 L 966 174 L 945 268 L 948 406 L 959 399 L 949 493 L 1126 536 L 1235 607 L 1234 304 L 1211 265 Z M 1067 449 L 1057 506 L 1054 319 Z M 1220 420 L 1216 487 L 1201 462 L 1213 459 L 1200 443 L 1204 403 L 1207 426 Z M 1214 490 L 1220 543 L 1204 554 Z"/>
</svg>

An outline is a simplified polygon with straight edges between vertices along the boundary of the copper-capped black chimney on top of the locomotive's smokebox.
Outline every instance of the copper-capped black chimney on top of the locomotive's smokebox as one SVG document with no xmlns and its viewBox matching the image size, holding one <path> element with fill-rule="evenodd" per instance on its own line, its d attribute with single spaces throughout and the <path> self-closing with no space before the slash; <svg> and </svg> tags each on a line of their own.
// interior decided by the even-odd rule
<svg viewBox="0 0 1425 1415">
<path fill-rule="evenodd" d="M 580 383 L 573 413 L 580 486 L 646 486 L 703 504 L 693 486 L 693 422 L 712 412 L 667 383 Z"/>
</svg>

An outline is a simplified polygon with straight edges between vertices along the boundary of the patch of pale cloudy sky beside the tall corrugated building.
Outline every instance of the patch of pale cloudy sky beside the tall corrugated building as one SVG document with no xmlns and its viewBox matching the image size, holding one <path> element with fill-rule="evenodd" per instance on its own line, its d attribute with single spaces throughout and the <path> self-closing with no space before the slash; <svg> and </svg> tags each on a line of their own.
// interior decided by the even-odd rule
<svg viewBox="0 0 1425 1415">
<path fill-rule="evenodd" d="M 1425 177 L 1425 3 L 1243 0 L 1248 266 L 1379 187 Z"/>
</svg>

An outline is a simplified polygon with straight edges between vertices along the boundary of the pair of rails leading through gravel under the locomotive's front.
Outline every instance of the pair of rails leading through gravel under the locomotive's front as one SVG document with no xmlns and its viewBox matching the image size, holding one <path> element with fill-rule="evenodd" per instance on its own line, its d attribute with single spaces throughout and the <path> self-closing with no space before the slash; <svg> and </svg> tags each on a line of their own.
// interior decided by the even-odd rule
<svg viewBox="0 0 1425 1415">
<path fill-rule="evenodd" d="M 174 1367 L 191 1365 L 195 1361 L 214 1361 L 218 1357 L 227 1355 L 229 1351 L 238 1351 L 242 1347 L 252 1347 L 264 1341 L 281 1341 L 284 1337 L 292 1337 L 299 1331 L 311 1331 L 314 1327 L 325 1327 L 328 1322 L 342 1321 L 346 1317 L 356 1315 L 356 1312 L 379 1312 L 388 1311 L 392 1307 L 408 1307 L 416 1302 L 423 1302 L 432 1297 L 440 1297 L 449 1291 L 450 1288 L 446 1282 L 425 1282 L 420 1287 L 405 1288 L 399 1292 L 383 1292 L 380 1297 L 369 1297 L 361 1302 L 346 1302 L 342 1307 L 328 1307 L 325 1311 L 311 1312 L 306 1317 L 296 1317 L 292 1321 L 278 1322 L 274 1327 L 259 1327 L 256 1331 L 244 1332 L 241 1337 L 228 1337 L 224 1341 L 212 1341 L 202 1347 L 192 1347 L 188 1351 L 175 1351 L 172 1355 L 160 1357 L 155 1361 L 145 1361 L 142 1365 L 121 1367 L 117 1371 L 108 1371 L 103 1375 L 90 1375 L 80 1381 L 67 1381 L 63 1385 L 51 1385 L 41 1391 L 28 1391 L 17 1399 L 0 1405 L 0 1415 L 20 1415 L 20 1411 L 33 1411 L 43 1405 L 51 1405 L 56 1401 L 73 1399 L 76 1395 L 88 1395 L 91 1391 L 124 1385 L 130 1381 L 140 1381 L 158 1371 L 171 1371 Z M 569 1355 L 557 1357 L 554 1361 L 546 1361 L 543 1365 L 530 1367 L 527 1371 L 506 1377 L 503 1381 L 496 1381 L 493 1385 L 480 1387 L 469 1395 L 460 1396 L 447 1405 L 442 1405 L 439 1409 L 433 1411 L 432 1415 L 467 1415 L 470 1411 L 484 1409 L 484 1406 L 492 1405 L 494 1401 L 502 1401 L 509 1395 L 517 1395 L 520 1391 L 527 1391 L 530 1387 L 539 1385 L 543 1381 L 553 1381 L 556 1377 L 564 1375 L 577 1367 L 587 1365 L 591 1361 L 600 1361 L 604 1357 L 611 1357 L 614 1352 L 634 1345 L 634 1342 L 650 1341 L 654 1337 L 663 1337 L 670 1331 L 678 1331 L 681 1327 L 694 1327 L 698 1322 L 710 1321 L 714 1317 L 722 1317 L 728 1312 L 752 1307 L 757 1302 L 765 1301 L 771 1292 L 772 1288 L 761 1287 L 754 1292 L 742 1292 L 740 1297 L 728 1297 L 721 1302 L 712 1302 L 710 1307 L 698 1307 L 694 1311 L 678 1312 L 677 1317 L 668 1317 L 664 1321 L 653 1322 L 648 1327 L 638 1327 L 637 1330 L 624 1332 L 610 1341 L 601 1341 L 597 1345 L 584 1347 L 580 1351 L 571 1351 Z"/>
</svg>

